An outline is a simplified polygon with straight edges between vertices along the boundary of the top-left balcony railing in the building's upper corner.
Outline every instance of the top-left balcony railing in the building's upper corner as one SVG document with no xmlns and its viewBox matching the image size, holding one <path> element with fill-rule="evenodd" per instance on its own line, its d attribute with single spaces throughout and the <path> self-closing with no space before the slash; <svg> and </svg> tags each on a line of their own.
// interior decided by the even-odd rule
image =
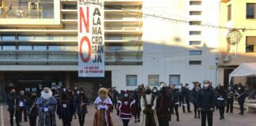
<svg viewBox="0 0 256 126">
<path fill-rule="evenodd" d="M 29 9 L 28 6 L 0 7 L 1 18 L 43 18 L 43 8 Z"/>
</svg>

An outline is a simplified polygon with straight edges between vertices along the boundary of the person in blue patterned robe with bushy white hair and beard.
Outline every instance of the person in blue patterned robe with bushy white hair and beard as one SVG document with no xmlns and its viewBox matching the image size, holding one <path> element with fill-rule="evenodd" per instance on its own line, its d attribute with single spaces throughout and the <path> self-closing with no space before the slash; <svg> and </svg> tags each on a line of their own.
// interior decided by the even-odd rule
<svg viewBox="0 0 256 126">
<path fill-rule="evenodd" d="M 41 92 L 41 97 L 36 101 L 39 111 L 39 126 L 56 126 L 55 107 L 57 101 L 52 96 L 50 88 L 45 87 Z"/>
</svg>

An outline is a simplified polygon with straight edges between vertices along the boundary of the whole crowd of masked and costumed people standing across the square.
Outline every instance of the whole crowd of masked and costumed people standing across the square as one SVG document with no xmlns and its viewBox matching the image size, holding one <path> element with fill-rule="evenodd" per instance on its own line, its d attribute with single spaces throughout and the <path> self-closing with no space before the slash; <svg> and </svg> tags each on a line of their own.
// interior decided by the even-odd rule
<svg viewBox="0 0 256 126">
<path fill-rule="evenodd" d="M 96 109 L 93 126 L 113 126 L 111 113 L 114 113 L 114 109 L 123 126 L 128 126 L 132 118 L 140 126 L 168 126 L 172 114 L 176 115 L 176 121 L 180 120 L 179 106 L 183 107 L 183 113 L 192 113 L 190 102 L 194 105 L 194 118 L 201 118 L 202 126 L 206 125 L 207 119 L 208 125 L 212 126 L 213 112 L 219 109 L 220 120 L 224 120 L 225 107 L 226 113 L 233 113 L 235 99 L 239 102 L 239 114 L 243 115 L 245 98 L 241 83 L 229 86 L 226 90 L 220 85 L 214 89 L 209 80 L 205 80 L 202 86 L 201 83 L 194 83 L 192 91 L 188 83 L 184 87 L 162 83 L 160 90 L 141 84 L 134 91 L 124 90 L 120 93 L 114 88 L 101 87 L 93 103 Z M 30 126 L 36 126 L 37 117 L 39 126 L 55 126 L 55 117 L 62 120 L 63 126 L 70 126 L 73 117 L 78 116 L 79 124 L 83 126 L 89 101 L 83 88 L 62 87 L 53 94 L 50 88 L 45 87 L 40 97 L 36 92 L 32 92 L 30 97 L 24 91 L 17 95 L 12 89 L 7 104 L 11 126 L 13 117 L 17 126 L 20 126 L 22 116 L 24 121 L 29 120 Z"/>
</svg>

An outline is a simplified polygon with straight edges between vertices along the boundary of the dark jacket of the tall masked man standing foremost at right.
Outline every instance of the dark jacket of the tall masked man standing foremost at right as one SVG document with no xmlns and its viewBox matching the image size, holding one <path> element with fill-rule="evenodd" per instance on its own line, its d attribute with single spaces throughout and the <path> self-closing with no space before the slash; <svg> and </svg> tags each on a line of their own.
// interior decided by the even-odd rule
<svg viewBox="0 0 256 126">
<path fill-rule="evenodd" d="M 202 111 L 209 111 L 215 107 L 215 93 L 211 88 L 203 88 L 198 94 L 198 108 Z"/>
</svg>

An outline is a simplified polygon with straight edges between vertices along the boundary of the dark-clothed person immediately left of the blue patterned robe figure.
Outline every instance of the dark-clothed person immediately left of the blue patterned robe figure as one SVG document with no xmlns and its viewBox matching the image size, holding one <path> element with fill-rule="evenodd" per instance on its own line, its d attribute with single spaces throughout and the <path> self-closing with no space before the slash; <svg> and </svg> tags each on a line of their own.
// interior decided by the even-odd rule
<svg viewBox="0 0 256 126">
<path fill-rule="evenodd" d="M 38 110 L 36 108 L 37 95 L 36 92 L 33 92 L 30 98 L 28 98 L 28 120 L 30 126 L 36 126 L 36 118 L 38 116 Z"/>
</svg>

